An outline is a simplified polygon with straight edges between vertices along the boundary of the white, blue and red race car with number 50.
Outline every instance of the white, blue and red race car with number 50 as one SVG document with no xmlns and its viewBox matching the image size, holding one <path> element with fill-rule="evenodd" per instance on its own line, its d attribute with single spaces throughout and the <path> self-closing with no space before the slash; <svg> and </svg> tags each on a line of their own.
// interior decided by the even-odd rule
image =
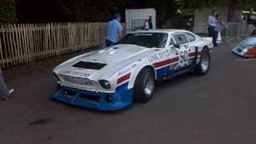
<svg viewBox="0 0 256 144">
<path fill-rule="evenodd" d="M 63 62 L 54 69 L 53 98 L 74 106 L 120 110 L 148 102 L 156 81 L 193 71 L 206 74 L 213 44 L 186 30 L 143 30 L 117 45 Z"/>
</svg>

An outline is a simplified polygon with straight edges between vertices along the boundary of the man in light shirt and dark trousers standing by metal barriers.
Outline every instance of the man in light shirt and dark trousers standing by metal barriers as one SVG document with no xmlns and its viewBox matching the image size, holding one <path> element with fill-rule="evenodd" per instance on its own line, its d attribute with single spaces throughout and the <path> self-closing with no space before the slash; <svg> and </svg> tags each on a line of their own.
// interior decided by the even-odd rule
<svg viewBox="0 0 256 144">
<path fill-rule="evenodd" d="M 214 46 L 218 46 L 217 45 L 218 30 L 216 30 L 216 28 L 218 29 L 218 24 L 216 19 L 217 14 L 218 14 L 217 11 L 213 10 L 207 21 L 209 37 L 213 38 Z"/>
</svg>

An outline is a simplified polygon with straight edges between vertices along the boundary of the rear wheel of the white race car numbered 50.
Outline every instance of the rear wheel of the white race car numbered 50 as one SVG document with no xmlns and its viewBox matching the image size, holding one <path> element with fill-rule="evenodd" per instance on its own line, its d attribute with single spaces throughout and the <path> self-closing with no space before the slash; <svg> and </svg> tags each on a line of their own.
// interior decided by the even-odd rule
<svg viewBox="0 0 256 144">
<path fill-rule="evenodd" d="M 210 51 L 208 50 L 208 48 L 204 48 L 200 54 L 200 62 L 197 66 L 194 67 L 194 74 L 205 75 L 210 69 Z M 208 62 L 208 66 L 206 66 L 207 68 L 203 67 L 203 61 Z"/>
</svg>

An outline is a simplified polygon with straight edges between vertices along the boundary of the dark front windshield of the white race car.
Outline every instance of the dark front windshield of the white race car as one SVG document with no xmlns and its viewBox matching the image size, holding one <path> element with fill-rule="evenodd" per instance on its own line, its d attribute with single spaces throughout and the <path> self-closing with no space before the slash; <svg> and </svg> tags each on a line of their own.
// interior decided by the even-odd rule
<svg viewBox="0 0 256 144">
<path fill-rule="evenodd" d="M 126 34 L 118 44 L 131 44 L 145 46 L 148 48 L 164 48 L 166 46 L 168 34 L 164 33 L 136 33 Z"/>
</svg>

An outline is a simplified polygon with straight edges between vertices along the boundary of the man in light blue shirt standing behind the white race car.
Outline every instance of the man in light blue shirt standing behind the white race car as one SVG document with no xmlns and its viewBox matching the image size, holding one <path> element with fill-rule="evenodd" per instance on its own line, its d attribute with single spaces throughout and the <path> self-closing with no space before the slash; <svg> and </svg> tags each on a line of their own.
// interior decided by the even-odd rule
<svg viewBox="0 0 256 144">
<path fill-rule="evenodd" d="M 114 18 L 107 24 L 106 46 L 113 46 L 122 38 L 121 15 L 114 14 Z"/>
</svg>

